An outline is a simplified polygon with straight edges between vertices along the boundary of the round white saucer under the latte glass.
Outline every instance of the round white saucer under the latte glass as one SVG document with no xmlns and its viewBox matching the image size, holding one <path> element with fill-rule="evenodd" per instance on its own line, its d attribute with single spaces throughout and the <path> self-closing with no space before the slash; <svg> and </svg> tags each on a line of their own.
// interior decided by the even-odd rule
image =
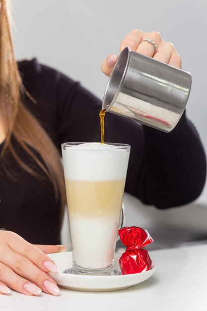
<svg viewBox="0 0 207 311">
<path fill-rule="evenodd" d="M 120 271 L 119 258 L 122 253 L 116 253 L 114 266 Z M 106 292 L 125 289 L 147 280 L 155 271 L 156 264 L 152 262 L 152 269 L 141 273 L 113 276 L 88 276 L 63 273 L 72 266 L 72 252 L 49 254 L 58 267 L 58 273 L 50 273 L 58 285 L 76 291 Z"/>
</svg>

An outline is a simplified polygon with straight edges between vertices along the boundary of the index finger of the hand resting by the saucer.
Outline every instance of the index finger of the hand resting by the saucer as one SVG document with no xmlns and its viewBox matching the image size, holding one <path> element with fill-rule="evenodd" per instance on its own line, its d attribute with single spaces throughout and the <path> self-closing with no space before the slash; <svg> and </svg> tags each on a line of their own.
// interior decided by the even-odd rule
<svg viewBox="0 0 207 311">
<path fill-rule="evenodd" d="M 10 235 L 8 240 L 8 246 L 10 249 L 33 262 L 37 267 L 46 272 L 57 272 L 58 268 L 49 256 L 44 254 L 38 247 L 30 244 L 22 237 L 18 236 L 16 239 L 16 233 Z M 7 251 L 7 249 L 6 249 Z M 6 252 L 5 252 L 6 253 Z M 1 258 L 1 256 L 0 256 Z M 2 260 L 5 256 L 2 258 Z M 3 262 L 3 261 L 1 261 Z"/>
</svg>

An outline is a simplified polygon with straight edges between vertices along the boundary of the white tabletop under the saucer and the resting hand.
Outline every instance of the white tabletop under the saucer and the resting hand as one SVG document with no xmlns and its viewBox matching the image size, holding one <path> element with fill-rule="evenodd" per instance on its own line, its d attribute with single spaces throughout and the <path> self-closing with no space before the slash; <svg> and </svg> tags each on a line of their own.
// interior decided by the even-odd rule
<svg viewBox="0 0 207 311">
<path fill-rule="evenodd" d="M 24 296 L 0 295 L 0 311 L 207 311 L 207 244 L 154 250 L 154 275 L 115 292 L 78 292 Z"/>
</svg>

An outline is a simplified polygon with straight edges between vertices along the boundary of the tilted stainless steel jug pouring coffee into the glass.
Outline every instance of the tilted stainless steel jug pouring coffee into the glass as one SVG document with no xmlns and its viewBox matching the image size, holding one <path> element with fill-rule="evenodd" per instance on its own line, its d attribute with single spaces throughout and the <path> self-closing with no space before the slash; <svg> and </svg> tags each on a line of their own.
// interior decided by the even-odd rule
<svg viewBox="0 0 207 311">
<path fill-rule="evenodd" d="M 102 108 L 170 132 L 185 109 L 191 82 L 189 73 L 127 47 L 109 78 Z"/>
</svg>

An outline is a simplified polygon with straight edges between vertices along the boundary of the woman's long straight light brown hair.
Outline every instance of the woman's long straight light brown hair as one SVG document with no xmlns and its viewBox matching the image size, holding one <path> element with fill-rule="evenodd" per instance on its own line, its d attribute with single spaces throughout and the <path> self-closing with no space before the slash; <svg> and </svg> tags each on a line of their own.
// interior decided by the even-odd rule
<svg viewBox="0 0 207 311">
<path fill-rule="evenodd" d="M 0 116 L 6 135 L 0 157 L 2 158 L 6 150 L 9 150 L 18 165 L 25 171 L 40 180 L 43 178 L 16 154 L 11 143 L 12 135 L 51 181 L 56 199 L 61 200 L 63 212 L 66 194 L 60 155 L 45 130 L 23 105 L 21 101 L 23 92 L 25 93 L 26 90 L 22 85 L 14 58 L 6 0 L 0 0 Z M 26 94 L 29 96 L 27 92 Z M 45 165 L 34 151 L 42 157 Z"/>
</svg>

